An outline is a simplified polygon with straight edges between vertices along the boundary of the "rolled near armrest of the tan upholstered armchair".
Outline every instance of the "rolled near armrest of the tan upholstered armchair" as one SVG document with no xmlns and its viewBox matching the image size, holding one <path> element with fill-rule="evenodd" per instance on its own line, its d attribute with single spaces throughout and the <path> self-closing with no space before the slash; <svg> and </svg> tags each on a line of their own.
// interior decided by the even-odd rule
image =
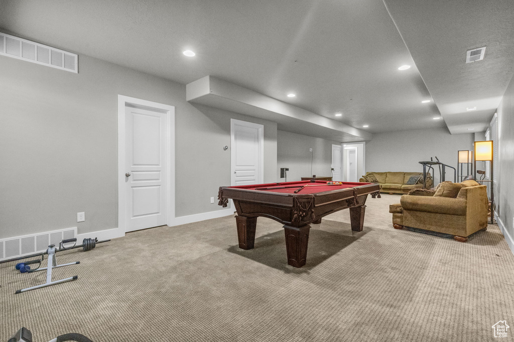
<svg viewBox="0 0 514 342">
<path fill-rule="evenodd" d="M 467 200 L 461 198 L 413 196 L 400 197 L 403 210 L 465 216 Z"/>
</svg>

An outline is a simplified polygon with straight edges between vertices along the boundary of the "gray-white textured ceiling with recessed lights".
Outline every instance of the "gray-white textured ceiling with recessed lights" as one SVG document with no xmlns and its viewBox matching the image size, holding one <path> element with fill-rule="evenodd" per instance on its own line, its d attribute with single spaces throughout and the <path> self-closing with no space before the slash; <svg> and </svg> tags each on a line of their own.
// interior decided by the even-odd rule
<svg viewBox="0 0 514 342">
<path fill-rule="evenodd" d="M 0 28 L 182 84 L 212 75 L 371 133 L 483 130 L 514 73 L 514 1 L 386 3 L 391 15 L 381 0 L 0 0 Z M 464 115 L 473 101 L 484 108 Z"/>
</svg>

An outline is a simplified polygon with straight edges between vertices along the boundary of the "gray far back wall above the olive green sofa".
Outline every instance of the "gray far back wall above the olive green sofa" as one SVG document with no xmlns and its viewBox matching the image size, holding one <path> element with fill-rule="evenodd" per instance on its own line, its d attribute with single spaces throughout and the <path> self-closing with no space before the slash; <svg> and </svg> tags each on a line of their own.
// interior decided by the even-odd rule
<svg viewBox="0 0 514 342">
<path fill-rule="evenodd" d="M 474 135 L 450 134 L 446 128 L 410 130 L 373 134 L 366 142 L 366 171 L 422 172 L 418 162 L 437 156 L 440 162 L 457 167 L 457 151 L 471 150 Z M 434 158 L 435 160 L 435 158 Z M 439 170 L 435 170 L 439 183 Z M 453 182 L 453 170 L 448 168 L 446 180 Z"/>
</svg>

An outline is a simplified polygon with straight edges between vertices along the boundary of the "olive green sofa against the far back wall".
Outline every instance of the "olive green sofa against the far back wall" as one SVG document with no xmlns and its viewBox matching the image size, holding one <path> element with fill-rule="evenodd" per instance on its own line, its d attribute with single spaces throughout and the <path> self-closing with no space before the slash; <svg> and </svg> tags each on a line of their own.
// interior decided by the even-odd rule
<svg viewBox="0 0 514 342">
<path fill-rule="evenodd" d="M 376 182 L 373 181 L 373 176 L 376 178 Z M 408 185 L 407 182 L 411 176 L 421 176 L 420 183 Z M 359 182 L 378 183 L 380 192 L 383 193 L 407 194 L 412 189 L 423 189 L 423 172 L 366 172 L 359 179 Z M 427 174 L 425 188 L 432 188 L 432 176 L 430 173 Z"/>
</svg>

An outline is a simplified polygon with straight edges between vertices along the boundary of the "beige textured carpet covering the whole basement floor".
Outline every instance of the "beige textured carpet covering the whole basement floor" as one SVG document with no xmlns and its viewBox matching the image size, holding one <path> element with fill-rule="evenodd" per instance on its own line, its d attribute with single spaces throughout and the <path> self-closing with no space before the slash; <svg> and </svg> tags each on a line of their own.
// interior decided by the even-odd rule
<svg viewBox="0 0 514 342">
<path fill-rule="evenodd" d="M 310 230 L 307 265 L 287 265 L 282 226 L 259 218 L 255 248 L 237 247 L 231 216 L 158 227 L 58 254 L 54 279 L 0 265 L 0 341 L 67 332 L 94 341 L 489 341 L 514 336 L 514 256 L 500 230 L 458 243 L 395 230 L 389 204 L 368 199 L 362 232 L 348 210 Z"/>
</svg>

